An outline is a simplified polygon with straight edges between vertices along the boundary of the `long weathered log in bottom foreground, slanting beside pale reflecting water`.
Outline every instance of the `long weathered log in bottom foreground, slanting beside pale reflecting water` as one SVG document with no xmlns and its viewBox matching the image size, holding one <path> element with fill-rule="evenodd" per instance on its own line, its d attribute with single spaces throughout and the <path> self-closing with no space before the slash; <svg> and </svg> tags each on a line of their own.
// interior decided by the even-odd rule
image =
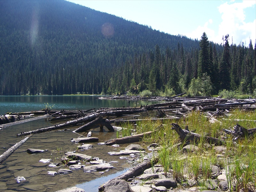
<svg viewBox="0 0 256 192">
<path fill-rule="evenodd" d="M 99 189 L 99 191 L 103 191 L 106 184 L 111 182 L 112 180 L 123 179 L 123 180 L 127 181 L 130 178 L 137 177 L 137 176 L 143 174 L 144 170 L 152 167 L 157 162 L 158 162 L 158 158 L 154 158 L 153 160 L 152 159 L 147 159 L 147 160 L 143 161 L 142 163 L 136 165 L 135 167 L 129 169 L 125 173 L 123 173 L 123 174 L 121 174 L 121 175 L 119 175 L 119 176 L 117 176 L 117 177 L 115 177 L 111 180 L 108 180 L 104 184 L 100 185 L 100 187 L 98 189 Z"/>
</svg>

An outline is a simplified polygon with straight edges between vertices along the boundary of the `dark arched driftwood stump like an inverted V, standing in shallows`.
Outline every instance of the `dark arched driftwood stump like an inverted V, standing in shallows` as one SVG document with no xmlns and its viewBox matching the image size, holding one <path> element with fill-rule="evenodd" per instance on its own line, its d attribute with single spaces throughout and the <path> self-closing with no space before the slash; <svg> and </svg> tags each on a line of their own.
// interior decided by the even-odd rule
<svg viewBox="0 0 256 192">
<path fill-rule="evenodd" d="M 112 125 L 110 124 L 110 122 L 108 121 L 108 119 L 103 118 L 102 116 L 99 116 L 95 120 L 77 128 L 73 132 L 85 132 L 89 129 L 92 129 L 92 128 L 95 128 L 95 127 L 98 127 L 98 126 L 100 126 L 100 127 L 105 126 L 105 127 L 108 128 L 109 131 L 112 131 L 112 132 L 115 131 L 114 128 L 112 127 Z"/>
</svg>

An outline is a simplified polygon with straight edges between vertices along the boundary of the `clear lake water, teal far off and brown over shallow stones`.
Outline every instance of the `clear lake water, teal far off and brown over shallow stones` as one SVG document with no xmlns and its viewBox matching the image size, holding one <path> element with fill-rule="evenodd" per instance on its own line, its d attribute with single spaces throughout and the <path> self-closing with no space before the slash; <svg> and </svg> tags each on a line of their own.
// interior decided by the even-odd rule
<svg viewBox="0 0 256 192">
<path fill-rule="evenodd" d="M 25 112 L 45 108 L 44 103 L 54 104 L 59 109 L 91 109 L 101 107 L 123 107 L 129 103 L 127 100 L 100 100 L 96 96 L 0 96 L 0 114 L 6 112 Z M 156 102 L 133 101 L 130 105 L 147 105 Z M 124 117 L 131 118 L 131 117 Z M 59 122 L 61 123 L 61 122 Z M 41 127 L 52 125 L 48 119 L 40 119 L 24 124 L 14 125 L 0 131 L 0 154 L 8 148 L 24 139 L 16 137 L 19 132 L 35 130 Z M 67 131 L 54 131 L 31 136 L 19 149 L 17 149 L 3 164 L 0 165 L 0 191 L 56 191 L 63 188 L 78 186 L 85 191 L 98 191 L 98 187 L 107 180 L 114 178 L 131 167 L 127 159 L 119 156 L 110 156 L 108 152 L 122 150 L 128 144 L 120 147 L 98 145 L 98 142 L 91 143 L 92 149 L 79 151 L 92 157 L 99 157 L 114 166 L 114 169 L 103 172 L 84 173 L 83 170 L 72 170 L 65 175 L 49 175 L 48 171 L 58 171 L 60 168 L 67 168 L 60 164 L 58 167 L 49 167 L 49 163 L 39 162 L 41 159 L 51 159 L 52 163 L 60 163 L 60 158 L 68 151 L 75 151 L 78 144 L 70 142 L 70 138 L 77 138 L 78 135 L 72 132 L 76 127 Z M 116 132 L 108 132 L 104 127 L 95 128 L 92 131 L 93 137 L 98 137 L 99 142 L 116 138 Z M 87 132 L 82 133 L 87 135 Z M 47 150 L 44 153 L 30 155 L 26 152 L 28 148 L 39 148 Z M 127 156 L 128 158 L 129 156 Z M 17 183 L 15 178 L 23 176 L 26 181 Z"/>
</svg>

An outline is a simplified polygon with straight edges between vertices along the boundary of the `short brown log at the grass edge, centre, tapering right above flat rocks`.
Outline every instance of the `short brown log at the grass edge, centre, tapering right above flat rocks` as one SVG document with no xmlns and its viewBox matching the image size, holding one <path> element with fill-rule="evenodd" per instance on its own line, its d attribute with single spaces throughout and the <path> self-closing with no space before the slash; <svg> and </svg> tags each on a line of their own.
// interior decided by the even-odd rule
<svg viewBox="0 0 256 192">
<path fill-rule="evenodd" d="M 152 132 L 155 132 L 155 131 L 149 131 L 149 132 L 140 133 L 137 135 L 111 139 L 111 140 L 106 141 L 105 144 L 106 145 L 114 145 L 114 144 L 125 144 L 125 143 L 138 142 L 138 141 L 142 140 L 144 136 L 151 135 Z"/>
</svg>

